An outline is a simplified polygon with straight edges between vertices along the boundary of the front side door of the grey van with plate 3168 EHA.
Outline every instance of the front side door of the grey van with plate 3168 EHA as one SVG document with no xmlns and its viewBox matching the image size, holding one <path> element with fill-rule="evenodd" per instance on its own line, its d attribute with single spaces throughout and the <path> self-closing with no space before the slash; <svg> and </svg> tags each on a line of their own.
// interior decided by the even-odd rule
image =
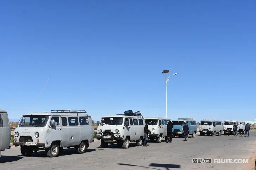
<svg viewBox="0 0 256 170">
<path fill-rule="evenodd" d="M 50 126 L 49 124 L 48 132 L 47 132 L 47 146 L 50 146 L 53 141 L 62 140 L 62 128 L 60 125 L 60 116 L 51 116 L 51 121 L 52 120 L 54 120 L 56 124 L 52 126 Z"/>
</svg>

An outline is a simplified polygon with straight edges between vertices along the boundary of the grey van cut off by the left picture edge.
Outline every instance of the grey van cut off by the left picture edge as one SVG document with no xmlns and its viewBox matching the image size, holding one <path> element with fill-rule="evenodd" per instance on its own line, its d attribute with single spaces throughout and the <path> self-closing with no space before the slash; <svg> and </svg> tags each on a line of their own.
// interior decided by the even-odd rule
<svg viewBox="0 0 256 170">
<path fill-rule="evenodd" d="M 10 148 L 11 130 L 9 125 L 8 114 L 5 110 L 0 109 L 0 157 L 1 151 Z"/>
</svg>

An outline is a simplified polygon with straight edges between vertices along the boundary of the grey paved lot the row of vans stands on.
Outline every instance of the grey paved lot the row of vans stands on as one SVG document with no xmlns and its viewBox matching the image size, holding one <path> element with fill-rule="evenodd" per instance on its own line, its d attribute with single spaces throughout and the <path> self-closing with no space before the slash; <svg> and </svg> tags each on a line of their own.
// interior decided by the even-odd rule
<svg viewBox="0 0 256 170">
<path fill-rule="evenodd" d="M 12 147 L 2 153 L 1 170 L 40 169 L 254 169 L 256 151 L 256 131 L 250 137 L 197 136 L 188 141 L 173 138 L 172 143 L 148 142 L 149 147 L 121 149 L 116 144 L 101 148 L 99 141 L 91 143 L 85 154 L 77 154 L 75 149 L 64 149 L 62 155 L 48 158 L 44 151 L 23 157 L 20 147 Z M 193 164 L 193 158 L 210 158 L 212 163 Z M 249 159 L 248 164 L 213 163 L 213 159 Z"/>
</svg>

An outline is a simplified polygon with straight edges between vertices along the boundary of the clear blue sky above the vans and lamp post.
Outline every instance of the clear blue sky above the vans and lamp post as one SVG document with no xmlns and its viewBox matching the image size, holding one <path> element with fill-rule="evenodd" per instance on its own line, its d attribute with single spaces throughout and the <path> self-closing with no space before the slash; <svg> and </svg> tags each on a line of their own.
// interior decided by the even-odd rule
<svg viewBox="0 0 256 170">
<path fill-rule="evenodd" d="M 256 118 L 255 1 L 2 1 L 0 108 Z M 169 74 L 171 75 L 171 74 Z M 41 93 L 46 80 L 45 89 Z"/>
</svg>

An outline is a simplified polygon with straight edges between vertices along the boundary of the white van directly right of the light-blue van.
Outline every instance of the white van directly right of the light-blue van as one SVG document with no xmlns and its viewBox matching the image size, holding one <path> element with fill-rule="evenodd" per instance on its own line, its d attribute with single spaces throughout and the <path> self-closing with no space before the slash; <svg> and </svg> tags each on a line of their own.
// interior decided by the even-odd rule
<svg viewBox="0 0 256 170">
<path fill-rule="evenodd" d="M 205 134 L 207 136 L 218 136 L 221 135 L 221 132 L 223 130 L 222 122 L 219 120 L 201 120 L 201 124 L 199 126 L 199 132 L 201 136 L 204 136 Z"/>
</svg>

